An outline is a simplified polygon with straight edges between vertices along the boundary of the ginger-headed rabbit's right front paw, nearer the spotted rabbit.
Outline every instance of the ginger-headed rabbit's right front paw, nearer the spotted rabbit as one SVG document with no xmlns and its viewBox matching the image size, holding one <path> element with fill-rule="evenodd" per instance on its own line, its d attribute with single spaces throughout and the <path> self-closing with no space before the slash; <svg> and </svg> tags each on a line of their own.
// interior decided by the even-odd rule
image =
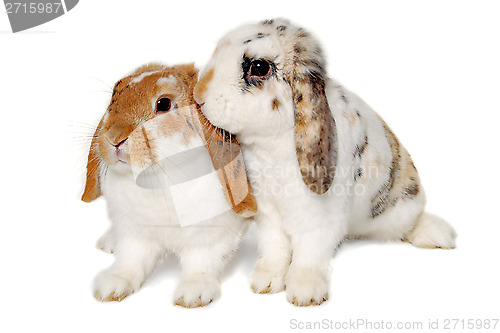
<svg viewBox="0 0 500 333">
<path fill-rule="evenodd" d="M 181 281 L 175 292 L 175 305 L 197 308 L 215 301 L 220 296 L 220 283 L 216 277 L 200 274 Z"/>
</svg>

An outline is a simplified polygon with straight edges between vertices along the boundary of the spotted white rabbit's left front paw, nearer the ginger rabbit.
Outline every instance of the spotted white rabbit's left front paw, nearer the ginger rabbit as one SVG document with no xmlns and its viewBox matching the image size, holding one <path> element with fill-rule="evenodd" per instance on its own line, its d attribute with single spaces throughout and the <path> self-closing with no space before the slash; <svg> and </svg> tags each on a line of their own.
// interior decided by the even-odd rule
<svg viewBox="0 0 500 333">
<path fill-rule="evenodd" d="M 286 267 L 257 263 L 252 272 L 252 290 L 256 294 L 274 294 L 285 290 Z"/>
</svg>

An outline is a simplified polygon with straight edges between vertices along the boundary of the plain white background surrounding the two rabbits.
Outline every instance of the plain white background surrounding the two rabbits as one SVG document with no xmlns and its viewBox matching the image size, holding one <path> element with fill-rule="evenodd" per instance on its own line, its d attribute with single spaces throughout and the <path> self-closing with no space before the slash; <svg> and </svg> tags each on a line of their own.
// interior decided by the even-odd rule
<svg viewBox="0 0 500 333">
<path fill-rule="evenodd" d="M 327 4 L 328 3 L 328 4 Z M 458 248 L 350 242 L 333 260 L 330 300 L 295 308 L 255 295 L 251 230 L 222 297 L 173 306 L 179 268 L 167 259 L 121 303 L 94 300 L 113 258 L 95 249 L 105 203 L 79 201 L 89 136 L 122 75 L 149 61 L 210 57 L 219 37 L 287 17 L 324 44 L 330 75 L 358 93 L 412 154 L 428 208 Z M 496 1 L 80 1 L 24 33 L 0 13 L 3 332 L 286 332 L 300 322 L 499 318 L 500 5 Z M 498 324 L 497 331 L 500 330 Z"/>
</svg>

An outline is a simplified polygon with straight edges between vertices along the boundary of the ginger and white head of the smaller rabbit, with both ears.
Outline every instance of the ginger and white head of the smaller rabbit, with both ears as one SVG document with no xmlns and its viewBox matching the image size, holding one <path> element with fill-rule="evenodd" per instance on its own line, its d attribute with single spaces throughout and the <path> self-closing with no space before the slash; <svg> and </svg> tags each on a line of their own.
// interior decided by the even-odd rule
<svg viewBox="0 0 500 333">
<path fill-rule="evenodd" d="M 198 70 L 192 64 L 151 64 L 116 83 L 90 146 L 83 201 L 101 195 L 100 173 L 106 168 L 120 172 L 132 167 L 137 173 L 167 155 L 204 145 L 233 211 L 245 217 L 256 213 L 240 147 L 201 113 L 193 97 L 197 79 Z M 184 164 L 177 166 L 182 169 Z"/>
</svg>

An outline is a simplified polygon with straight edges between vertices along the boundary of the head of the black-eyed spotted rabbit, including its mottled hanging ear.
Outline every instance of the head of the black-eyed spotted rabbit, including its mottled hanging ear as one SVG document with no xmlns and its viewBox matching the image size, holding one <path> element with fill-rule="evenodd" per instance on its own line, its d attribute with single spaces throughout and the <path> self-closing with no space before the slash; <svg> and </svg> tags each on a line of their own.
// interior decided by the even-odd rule
<svg viewBox="0 0 500 333">
<path fill-rule="evenodd" d="M 195 87 L 202 112 L 242 144 L 293 128 L 306 185 L 325 193 L 336 165 L 336 128 L 315 38 L 287 20 L 240 27 L 223 37 Z"/>
</svg>

